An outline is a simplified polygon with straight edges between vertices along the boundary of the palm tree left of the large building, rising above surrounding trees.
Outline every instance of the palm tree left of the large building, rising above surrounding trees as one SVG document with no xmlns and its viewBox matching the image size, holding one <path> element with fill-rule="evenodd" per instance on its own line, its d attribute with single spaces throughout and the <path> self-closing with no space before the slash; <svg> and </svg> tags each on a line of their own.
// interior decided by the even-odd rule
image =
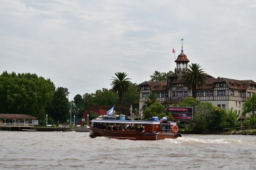
<svg viewBox="0 0 256 170">
<path fill-rule="evenodd" d="M 115 92 L 118 92 L 119 95 L 119 105 L 122 104 L 122 98 L 123 98 L 123 93 L 127 92 L 130 89 L 130 81 L 131 79 L 129 78 L 125 78 L 126 76 L 128 76 L 128 74 L 126 73 L 121 73 L 121 72 L 117 72 L 115 73 L 115 75 L 117 77 L 112 77 L 114 79 L 112 83 L 110 84 L 112 86 L 112 90 Z"/>
</svg>

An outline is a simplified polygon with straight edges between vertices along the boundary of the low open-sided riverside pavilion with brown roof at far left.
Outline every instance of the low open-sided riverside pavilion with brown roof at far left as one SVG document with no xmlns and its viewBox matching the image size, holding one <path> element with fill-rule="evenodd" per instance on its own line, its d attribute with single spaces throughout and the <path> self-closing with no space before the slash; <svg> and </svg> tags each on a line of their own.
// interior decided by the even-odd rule
<svg viewBox="0 0 256 170">
<path fill-rule="evenodd" d="M 28 127 L 38 125 L 37 118 L 25 114 L 0 114 L 0 127 L 1 126 L 20 126 Z M 32 120 L 32 121 L 30 121 Z"/>
</svg>

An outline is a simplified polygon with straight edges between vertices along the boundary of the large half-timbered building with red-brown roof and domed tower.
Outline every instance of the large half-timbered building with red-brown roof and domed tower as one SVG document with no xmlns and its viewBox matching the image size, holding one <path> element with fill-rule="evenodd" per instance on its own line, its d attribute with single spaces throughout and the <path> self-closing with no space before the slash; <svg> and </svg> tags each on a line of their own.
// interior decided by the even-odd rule
<svg viewBox="0 0 256 170">
<path fill-rule="evenodd" d="M 188 71 L 186 54 L 181 50 L 175 63 L 177 67 L 174 73 L 168 76 L 167 81 L 149 82 L 139 84 L 139 108 L 148 97 L 149 93 L 155 93 L 158 101 L 166 107 L 171 107 L 187 97 L 192 97 L 192 89 L 182 81 L 183 74 Z M 256 92 L 256 82 L 252 80 L 235 80 L 227 78 L 214 78 L 205 75 L 206 83 L 197 87 L 197 100 L 211 102 L 213 105 L 229 110 L 233 107 L 237 114 L 242 113 L 243 104 L 247 97 Z M 142 112 L 142 111 L 141 111 Z"/>
</svg>

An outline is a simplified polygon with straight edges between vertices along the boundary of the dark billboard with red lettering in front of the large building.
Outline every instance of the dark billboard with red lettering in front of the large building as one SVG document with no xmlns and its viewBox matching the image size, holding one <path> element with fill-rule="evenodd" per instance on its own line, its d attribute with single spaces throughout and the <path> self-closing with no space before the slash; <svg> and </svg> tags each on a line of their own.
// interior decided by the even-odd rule
<svg viewBox="0 0 256 170">
<path fill-rule="evenodd" d="M 193 107 L 168 107 L 168 113 L 176 120 L 193 120 Z"/>
</svg>

